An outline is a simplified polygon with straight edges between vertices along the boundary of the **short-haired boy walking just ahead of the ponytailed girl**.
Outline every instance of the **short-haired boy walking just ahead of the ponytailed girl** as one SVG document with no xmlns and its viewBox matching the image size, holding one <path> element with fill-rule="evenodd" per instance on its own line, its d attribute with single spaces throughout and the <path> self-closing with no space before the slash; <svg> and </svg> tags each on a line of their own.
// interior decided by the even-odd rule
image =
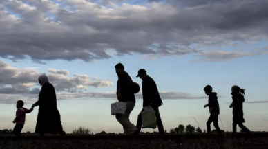
<svg viewBox="0 0 268 149">
<path fill-rule="evenodd" d="M 204 87 L 204 93 L 209 96 L 209 104 L 204 105 L 204 108 L 209 106 L 210 117 L 207 120 L 207 134 L 211 133 L 210 124 L 213 122 L 214 127 L 216 128 L 216 133 L 222 133 L 218 125 L 218 115 L 220 115 L 220 106 L 218 103 L 217 93 L 212 92 L 212 87 L 207 85 Z"/>
</svg>

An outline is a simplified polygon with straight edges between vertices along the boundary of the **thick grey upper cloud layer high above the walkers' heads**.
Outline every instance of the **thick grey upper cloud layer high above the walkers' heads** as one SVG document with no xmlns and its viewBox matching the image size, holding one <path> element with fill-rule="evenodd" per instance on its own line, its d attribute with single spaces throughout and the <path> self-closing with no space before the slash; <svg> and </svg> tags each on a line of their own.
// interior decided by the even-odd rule
<svg viewBox="0 0 268 149">
<path fill-rule="evenodd" d="M 107 6 L 95 4 L 100 2 Z M 114 3 L 113 3 L 114 2 Z M 207 51 L 209 46 L 267 41 L 268 1 L 148 0 L 148 5 L 108 1 L 0 1 L 0 56 L 86 62 L 117 55 L 151 57 L 193 54 L 195 61 L 232 60 L 267 54 Z M 155 3 L 156 2 L 156 3 Z M 242 42 L 242 43 L 238 43 Z M 62 74 L 62 73 L 61 73 Z"/>
</svg>

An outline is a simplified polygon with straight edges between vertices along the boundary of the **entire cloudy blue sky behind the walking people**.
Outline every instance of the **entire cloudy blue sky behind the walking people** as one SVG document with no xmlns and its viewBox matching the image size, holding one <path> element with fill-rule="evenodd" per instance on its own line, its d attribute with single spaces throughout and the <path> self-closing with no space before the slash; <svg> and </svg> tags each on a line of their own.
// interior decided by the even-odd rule
<svg viewBox="0 0 268 149">
<path fill-rule="evenodd" d="M 122 132 L 110 109 L 122 62 L 140 86 L 141 68 L 155 80 L 168 131 L 205 128 L 207 84 L 219 96 L 220 128 L 231 130 L 238 85 L 246 89 L 245 125 L 268 130 L 267 7 L 266 0 L 0 0 L 0 129 L 15 118 L 17 100 L 26 108 L 37 101 L 37 78 L 46 73 L 66 132 Z M 141 93 L 136 98 L 133 124 L 142 110 Z M 35 130 L 37 113 L 23 131 Z"/>
</svg>

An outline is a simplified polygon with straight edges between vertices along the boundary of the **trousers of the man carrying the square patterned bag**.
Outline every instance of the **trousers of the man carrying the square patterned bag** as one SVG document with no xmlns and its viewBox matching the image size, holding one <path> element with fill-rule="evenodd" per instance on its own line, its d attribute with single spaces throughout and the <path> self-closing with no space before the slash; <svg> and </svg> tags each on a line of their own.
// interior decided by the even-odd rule
<svg viewBox="0 0 268 149">
<path fill-rule="evenodd" d="M 134 133 L 137 128 L 129 121 L 129 115 L 131 115 L 131 111 L 135 106 L 134 102 L 126 102 L 126 113 L 125 115 L 116 115 L 117 121 L 123 126 L 124 134 L 129 135 Z"/>
</svg>

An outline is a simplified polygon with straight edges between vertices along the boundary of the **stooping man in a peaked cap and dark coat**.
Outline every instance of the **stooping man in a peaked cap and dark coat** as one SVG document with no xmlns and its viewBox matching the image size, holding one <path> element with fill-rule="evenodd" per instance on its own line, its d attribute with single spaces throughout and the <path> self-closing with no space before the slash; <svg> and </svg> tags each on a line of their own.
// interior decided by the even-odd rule
<svg viewBox="0 0 268 149">
<path fill-rule="evenodd" d="M 158 127 L 158 133 L 160 135 L 164 135 L 164 126 L 162 124 L 162 120 L 159 113 L 159 106 L 162 106 L 163 102 L 160 98 L 160 94 L 157 89 L 157 85 L 155 84 L 155 81 L 153 78 L 148 76 L 146 74 L 146 71 L 144 69 L 140 69 L 138 71 L 137 77 L 140 77 L 142 79 L 142 98 L 143 98 L 143 108 L 140 112 L 139 116 L 137 117 L 137 129 L 140 133 L 140 130 L 142 128 L 142 112 L 144 111 L 144 108 L 146 106 L 151 106 L 153 110 L 155 111 L 155 117 L 156 117 L 156 124 Z"/>
</svg>

